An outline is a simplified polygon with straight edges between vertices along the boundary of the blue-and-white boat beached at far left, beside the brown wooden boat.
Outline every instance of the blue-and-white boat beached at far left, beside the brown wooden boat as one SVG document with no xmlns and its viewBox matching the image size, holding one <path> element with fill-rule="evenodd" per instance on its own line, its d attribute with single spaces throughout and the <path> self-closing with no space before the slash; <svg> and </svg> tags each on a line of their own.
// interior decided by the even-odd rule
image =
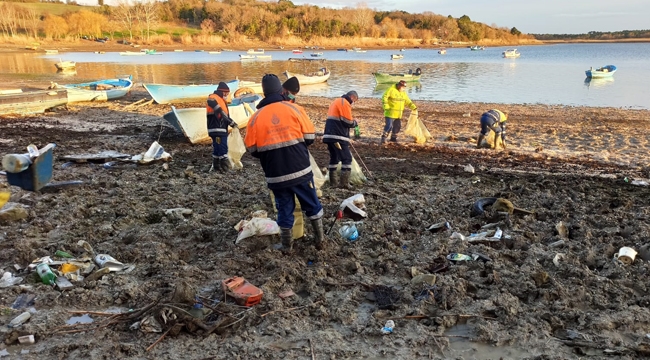
<svg viewBox="0 0 650 360">
<path fill-rule="evenodd" d="M 67 89 L 68 103 L 75 103 L 119 99 L 131 91 L 133 80 L 131 76 L 128 76 L 121 79 L 99 80 L 82 84 L 58 85 L 55 83 L 53 85 L 55 89 Z"/>
</svg>

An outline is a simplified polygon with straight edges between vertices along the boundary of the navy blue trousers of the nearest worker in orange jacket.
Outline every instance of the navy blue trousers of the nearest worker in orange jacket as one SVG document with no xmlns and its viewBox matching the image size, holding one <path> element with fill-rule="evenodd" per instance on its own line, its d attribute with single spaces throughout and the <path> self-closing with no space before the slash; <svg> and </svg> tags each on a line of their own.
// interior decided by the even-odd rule
<svg viewBox="0 0 650 360">
<path fill-rule="evenodd" d="M 283 229 L 293 227 L 293 210 L 296 207 L 295 198 L 298 198 L 300 207 L 310 220 L 323 217 L 323 206 L 316 196 L 314 178 L 295 186 L 274 189 L 275 208 L 278 209 L 278 226 Z"/>
</svg>

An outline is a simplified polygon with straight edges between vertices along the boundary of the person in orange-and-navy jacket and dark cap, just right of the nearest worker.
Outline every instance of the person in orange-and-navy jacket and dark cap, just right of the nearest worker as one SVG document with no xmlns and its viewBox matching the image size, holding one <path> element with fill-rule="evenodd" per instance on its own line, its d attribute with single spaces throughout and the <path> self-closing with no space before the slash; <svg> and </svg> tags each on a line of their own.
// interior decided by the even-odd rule
<svg viewBox="0 0 650 360">
<path fill-rule="evenodd" d="M 359 100 L 356 91 L 332 101 L 327 111 L 323 142 L 327 144 L 330 153 L 330 187 L 339 185 L 342 189 L 350 188 L 350 172 L 352 170 L 352 154 L 350 153 L 350 129 L 357 126 L 352 118 L 352 104 Z M 341 182 L 338 184 L 335 176 L 336 168 L 341 162 Z"/>
</svg>

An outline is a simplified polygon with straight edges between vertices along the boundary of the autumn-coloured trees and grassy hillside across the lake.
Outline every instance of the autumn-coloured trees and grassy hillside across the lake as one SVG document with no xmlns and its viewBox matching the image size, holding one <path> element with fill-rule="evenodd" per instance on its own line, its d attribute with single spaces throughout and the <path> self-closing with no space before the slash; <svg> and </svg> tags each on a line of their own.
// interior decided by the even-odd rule
<svg viewBox="0 0 650 360">
<path fill-rule="evenodd" d="M 34 0 L 21 0 L 32 2 Z M 427 42 L 516 42 L 532 39 L 516 28 L 488 26 L 432 12 L 374 11 L 365 3 L 343 9 L 294 5 L 289 0 L 120 0 L 115 6 L 79 7 L 62 15 L 41 14 L 20 3 L 0 3 L 0 31 L 5 37 L 19 34 L 49 39 L 99 37 L 118 34 L 129 40 L 149 41 L 163 24 L 183 24 L 202 34 L 226 40 L 242 37 L 269 41 L 293 36 L 371 37 L 422 39 Z"/>
</svg>

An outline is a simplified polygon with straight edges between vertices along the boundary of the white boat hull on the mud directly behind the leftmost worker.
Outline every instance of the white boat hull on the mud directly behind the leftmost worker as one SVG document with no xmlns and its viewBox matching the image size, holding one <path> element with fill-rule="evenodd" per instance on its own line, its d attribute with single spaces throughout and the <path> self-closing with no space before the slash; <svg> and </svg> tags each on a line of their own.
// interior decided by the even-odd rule
<svg viewBox="0 0 650 360">
<path fill-rule="evenodd" d="M 230 117 L 237 123 L 239 128 L 248 125 L 248 120 L 255 112 L 257 104 L 262 100 L 262 96 L 246 95 L 240 98 L 234 98 L 231 104 L 228 104 Z M 172 111 L 163 115 L 176 130 L 183 133 L 192 144 L 209 143 L 212 140 L 208 136 L 208 129 L 205 126 L 205 107 L 177 109 L 172 106 Z"/>
</svg>

